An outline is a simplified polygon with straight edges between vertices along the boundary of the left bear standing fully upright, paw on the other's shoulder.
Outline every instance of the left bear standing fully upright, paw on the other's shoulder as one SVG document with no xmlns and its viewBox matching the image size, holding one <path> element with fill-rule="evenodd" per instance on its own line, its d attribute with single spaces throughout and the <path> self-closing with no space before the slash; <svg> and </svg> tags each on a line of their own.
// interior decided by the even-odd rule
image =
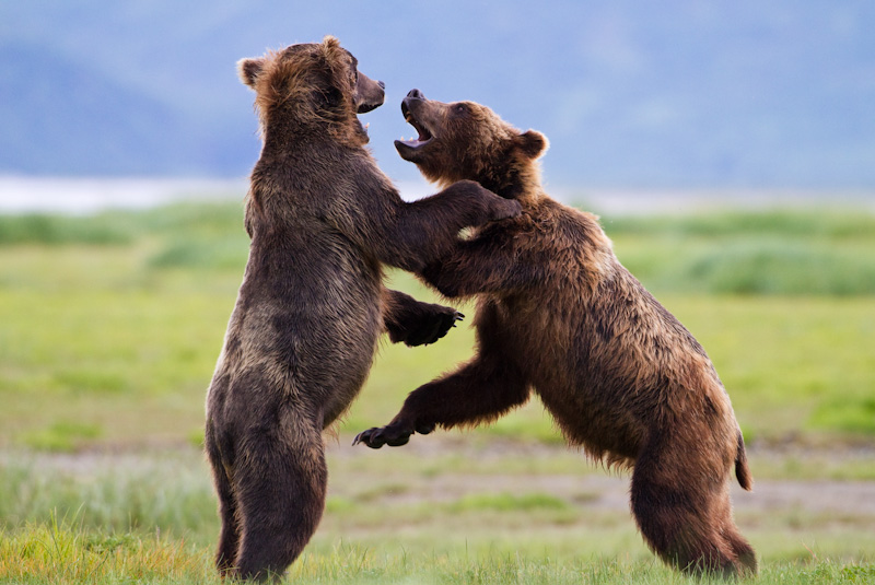
<svg viewBox="0 0 875 585">
<path fill-rule="evenodd" d="M 520 204 L 462 182 L 401 200 L 364 148 L 357 113 L 383 103 L 337 39 L 240 62 L 264 145 L 246 201 L 249 259 L 207 398 L 220 500 L 217 565 L 279 577 L 323 513 L 322 432 L 349 407 L 377 338 L 436 340 L 455 311 L 383 286 L 382 262 L 422 269 L 458 231 Z"/>
</svg>

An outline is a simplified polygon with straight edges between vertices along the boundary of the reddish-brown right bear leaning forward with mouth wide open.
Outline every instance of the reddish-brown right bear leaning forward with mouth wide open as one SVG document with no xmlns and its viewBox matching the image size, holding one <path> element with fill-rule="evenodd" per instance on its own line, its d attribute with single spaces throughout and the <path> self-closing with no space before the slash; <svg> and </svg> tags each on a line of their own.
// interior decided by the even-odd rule
<svg viewBox="0 0 875 585">
<path fill-rule="evenodd" d="M 730 398 L 702 347 L 617 260 L 597 218 L 544 192 L 535 162 L 544 136 L 418 90 L 402 112 L 419 138 L 396 148 L 427 178 L 477 180 L 523 213 L 478 230 L 424 270 L 445 296 L 477 295 L 477 354 L 357 442 L 402 445 L 435 425 L 490 422 L 534 389 L 569 442 L 633 468 L 632 511 L 666 562 L 755 573 L 730 504 L 733 466 L 751 487 Z"/>
</svg>

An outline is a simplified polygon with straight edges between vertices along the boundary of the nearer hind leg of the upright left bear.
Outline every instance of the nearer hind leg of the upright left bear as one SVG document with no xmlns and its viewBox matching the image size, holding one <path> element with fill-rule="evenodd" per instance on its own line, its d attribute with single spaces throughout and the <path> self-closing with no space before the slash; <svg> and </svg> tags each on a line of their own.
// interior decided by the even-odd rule
<svg viewBox="0 0 875 585">
<path fill-rule="evenodd" d="M 303 417 L 285 422 L 253 433 L 246 457 L 237 458 L 243 524 L 237 577 L 279 580 L 322 519 L 328 483 L 322 435 Z"/>
</svg>

